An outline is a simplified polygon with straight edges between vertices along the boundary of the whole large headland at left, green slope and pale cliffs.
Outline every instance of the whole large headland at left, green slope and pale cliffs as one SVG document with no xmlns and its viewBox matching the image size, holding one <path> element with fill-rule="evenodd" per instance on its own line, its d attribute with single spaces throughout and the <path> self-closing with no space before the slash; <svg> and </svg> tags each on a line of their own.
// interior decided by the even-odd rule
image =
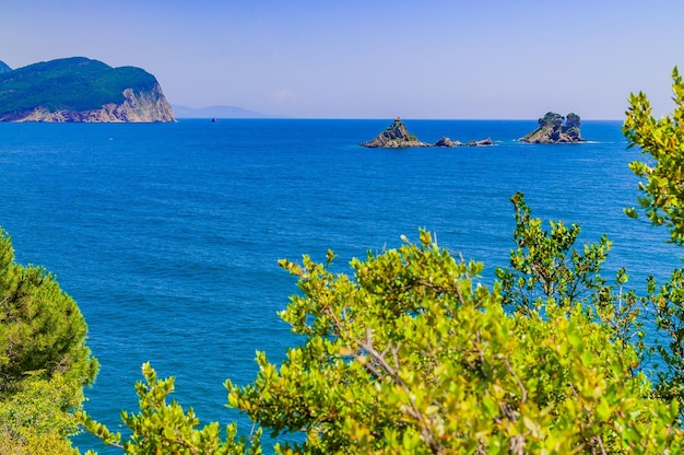
<svg viewBox="0 0 684 455">
<path fill-rule="evenodd" d="M 175 121 L 156 78 L 71 57 L 15 70 L 0 62 L 0 121 Z"/>
</svg>

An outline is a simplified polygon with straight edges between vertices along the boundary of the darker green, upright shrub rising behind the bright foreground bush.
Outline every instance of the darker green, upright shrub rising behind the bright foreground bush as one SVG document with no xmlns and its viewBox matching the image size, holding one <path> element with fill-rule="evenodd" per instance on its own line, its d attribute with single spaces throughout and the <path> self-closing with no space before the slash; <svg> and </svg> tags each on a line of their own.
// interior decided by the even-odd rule
<svg viewBox="0 0 684 455">
<path fill-rule="evenodd" d="M 623 289 L 628 281 L 624 269 L 617 270 L 613 285 L 600 275 L 611 249 L 608 237 L 603 235 L 598 244 L 585 244 L 579 252 L 574 248 L 581 232 L 578 224 L 566 226 L 563 221 L 551 221 L 551 232 L 545 231 L 543 220 L 532 218 L 521 192 L 510 200 L 516 218 L 516 248 L 510 252 L 510 268 L 495 269 L 504 306 L 522 316 L 543 314 L 550 304 L 593 308 L 601 322 L 612 328 L 616 340 L 634 343 L 639 355 L 645 357 L 648 351 L 640 318 L 644 299 L 634 290 Z"/>
</svg>

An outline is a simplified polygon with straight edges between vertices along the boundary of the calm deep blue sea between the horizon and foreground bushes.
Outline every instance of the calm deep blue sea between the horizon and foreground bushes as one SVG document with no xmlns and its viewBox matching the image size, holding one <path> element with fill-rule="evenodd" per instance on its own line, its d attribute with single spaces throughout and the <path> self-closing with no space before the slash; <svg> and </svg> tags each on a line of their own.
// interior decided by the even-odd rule
<svg viewBox="0 0 684 455">
<path fill-rule="evenodd" d="M 325 260 L 331 248 L 345 271 L 426 228 L 483 261 L 490 284 L 512 247 L 516 191 L 533 215 L 579 223 L 582 242 L 608 234 L 606 268 L 625 266 L 638 290 L 679 264 L 664 230 L 623 214 L 638 182 L 627 163 L 640 154 L 626 150 L 620 121 L 586 121 L 587 143 L 531 145 L 516 139 L 535 120 L 406 120 L 424 141 L 495 147 L 358 145 L 389 122 L 0 124 L 0 225 L 16 260 L 54 272 L 85 315 L 102 363 L 87 390 L 93 417 L 121 430 L 151 361 L 176 376 L 175 398 L 202 423 L 235 419 L 223 382 L 252 381 L 256 350 L 276 361 L 296 342 L 276 316 L 297 292 L 279 258 Z"/>
</svg>

